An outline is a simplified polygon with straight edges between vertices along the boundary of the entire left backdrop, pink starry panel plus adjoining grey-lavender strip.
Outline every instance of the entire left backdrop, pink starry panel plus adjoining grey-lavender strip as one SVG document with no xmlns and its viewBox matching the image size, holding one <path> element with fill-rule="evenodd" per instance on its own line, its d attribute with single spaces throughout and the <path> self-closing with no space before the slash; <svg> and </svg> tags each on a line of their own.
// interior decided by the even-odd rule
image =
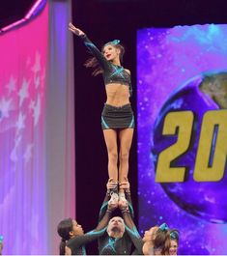
<svg viewBox="0 0 227 256">
<path fill-rule="evenodd" d="M 41 2 L 41 1 L 38 1 Z M 0 236 L 3 254 L 57 254 L 75 217 L 71 0 L 0 36 Z"/>
</svg>

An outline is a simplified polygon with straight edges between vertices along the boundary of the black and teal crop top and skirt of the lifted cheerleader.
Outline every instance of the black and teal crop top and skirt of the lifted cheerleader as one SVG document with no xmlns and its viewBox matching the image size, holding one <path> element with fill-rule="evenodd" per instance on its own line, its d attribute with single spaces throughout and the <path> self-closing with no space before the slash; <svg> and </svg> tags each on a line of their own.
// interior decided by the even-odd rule
<svg viewBox="0 0 227 256">
<path fill-rule="evenodd" d="M 129 96 L 131 96 L 130 74 L 122 66 L 117 66 L 107 61 L 97 46 L 86 35 L 80 36 L 80 39 L 98 60 L 104 84 L 120 83 L 126 85 L 128 86 Z M 128 103 L 120 107 L 105 104 L 101 113 L 101 127 L 102 129 L 134 128 L 134 115 L 130 104 Z"/>
</svg>

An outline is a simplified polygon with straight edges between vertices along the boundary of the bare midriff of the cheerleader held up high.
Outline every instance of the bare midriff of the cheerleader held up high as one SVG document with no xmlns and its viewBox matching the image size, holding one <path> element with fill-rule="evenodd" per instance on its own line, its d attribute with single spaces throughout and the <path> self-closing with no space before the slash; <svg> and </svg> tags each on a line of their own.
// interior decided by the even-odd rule
<svg viewBox="0 0 227 256">
<path fill-rule="evenodd" d="M 128 88 L 128 85 L 125 84 L 106 84 L 105 91 L 107 100 L 105 103 L 113 106 L 123 106 L 130 103 Z"/>
</svg>

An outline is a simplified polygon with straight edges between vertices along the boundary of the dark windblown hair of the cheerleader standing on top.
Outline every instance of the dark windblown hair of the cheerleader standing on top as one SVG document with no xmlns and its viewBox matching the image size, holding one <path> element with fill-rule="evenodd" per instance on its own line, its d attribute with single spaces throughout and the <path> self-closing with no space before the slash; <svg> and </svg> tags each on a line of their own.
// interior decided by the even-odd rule
<svg viewBox="0 0 227 256">
<path fill-rule="evenodd" d="M 104 48 L 104 46 L 106 46 L 106 45 L 108 45 L 108 44 L 111 44 L 112 46 L 114 46 L 115 48 L 117 48 L 117 49 L 120 49 L 120 61 L 121 62 L 123 62 L 123 56 L 124 56 L 124 54 L 125 54 L 125 47 L 122 45 L 122 44 L 120 44 L 120 43 L 118 43 L 118 44 L 113 44 L 113 43 L 105 43 L 102 47 L 101 47 L 101 52 L 103 51 L 103 48 Z M 94 75 L 94 76 L 97 76 L 99 73 L 102 73 L 103 71 L 102 71 L 102 69 L 100 68 L 100 66 L 99 66 L 99 62 L 98 62 L 98 60 L 97 60 L 97 58 L 96 57 L 91 57 L 91 58 L 89 58 L 86 62 L 85 62 L 85 64 L 84 64 L 84 66 L 86 67 L 86 68 L 93 68 L 94 69 L 94 71 L 92 72 L 92 74 Z"/>
</svg>

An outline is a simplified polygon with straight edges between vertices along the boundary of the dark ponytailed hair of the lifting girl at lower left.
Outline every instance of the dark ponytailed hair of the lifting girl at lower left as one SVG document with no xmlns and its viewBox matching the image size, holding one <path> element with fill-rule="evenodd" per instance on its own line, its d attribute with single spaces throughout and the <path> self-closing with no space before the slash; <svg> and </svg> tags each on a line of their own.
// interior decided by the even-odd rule
<svg viewBox="0 0 227 256">
<path fill-rule="evenodd" d="M 65 218 L 58 224 L 58 235 L 62 238 L 59 244 L 59 255 L 65 255 L 66 242 L 71 239 L 70 232 L 72 231 L 71 217 Z"/>
</svg>

